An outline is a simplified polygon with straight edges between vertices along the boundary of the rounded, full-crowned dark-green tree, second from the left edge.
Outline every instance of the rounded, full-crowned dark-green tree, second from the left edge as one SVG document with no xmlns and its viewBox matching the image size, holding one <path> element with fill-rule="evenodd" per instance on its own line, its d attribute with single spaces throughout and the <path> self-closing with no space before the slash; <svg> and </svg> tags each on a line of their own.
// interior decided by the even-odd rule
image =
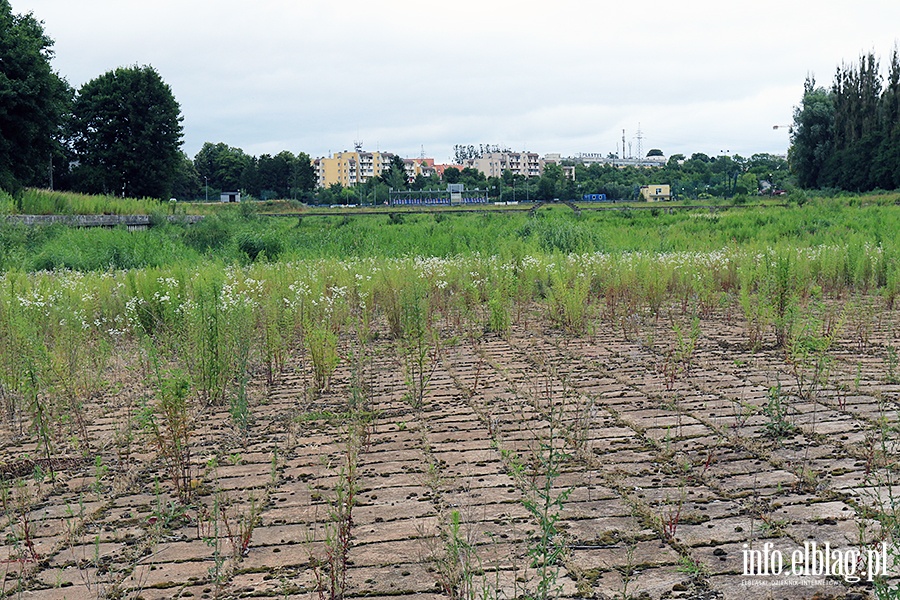
<svg viewBox="0 0 900 600">
<path fill-rule="evenodd" d="M 181 109 L 150 66 L 118 68 L 87 82 L 72 113 L 76 185 L 86 192 L 164 198 L 182 155 Z"/>
</svg>

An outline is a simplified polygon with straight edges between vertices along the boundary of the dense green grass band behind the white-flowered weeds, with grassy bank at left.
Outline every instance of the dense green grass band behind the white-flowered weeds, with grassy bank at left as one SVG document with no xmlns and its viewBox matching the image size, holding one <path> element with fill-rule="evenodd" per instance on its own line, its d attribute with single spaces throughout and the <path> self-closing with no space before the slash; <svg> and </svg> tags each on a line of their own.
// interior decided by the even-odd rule
<svg viewBox="0 0 900 600">
<path fill-rule="evenodd" d="M 53 198 L 26 192 L 26 198 Z M 106 206 L 110 199 L 78 198 Z M 62 200 L 60 201 L 63 202 Z M 112 202 L 119 202 L 112 199 Z M 153 208 L 123 200 L 120 214 Z M 77 212 L 74 203 L 64 214 Z M 160 207 L 156 203 L 156 207 Z M 179 205 L 180 207 L 181 205 Z M 127 208 L 127 210 L 126 210 Z M 81 271 L 159 267 L 207 260 L 227 264 L 316 258 L 521 257 L 547 253 L 709 252 L 723 248 L 883 246 L 892 250 L 900 207 L 888 196 L 818 199 L 802 206 L 728 210 L 582 211 L 564 206 L 528 212 L 336 215 L 271 218 L 250 205 L 225 206 L 199 225 L 148 231 L 0 225 L 0 270 Z M 259 207 L 257 207 L 259 208 Z M 180 208 L 179 208 L 180 210 Z"/>
</svg>

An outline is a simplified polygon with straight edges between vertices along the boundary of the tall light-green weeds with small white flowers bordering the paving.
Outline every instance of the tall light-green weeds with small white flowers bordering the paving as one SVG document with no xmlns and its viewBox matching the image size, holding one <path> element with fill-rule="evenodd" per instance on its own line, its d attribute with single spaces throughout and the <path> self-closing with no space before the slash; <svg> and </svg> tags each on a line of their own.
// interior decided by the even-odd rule
<svg viewBox="0 0 900 600">
<path fill-rule="evenodd" d="M 77 355 L 103 357 L 123 337 L 146 336 L 182 357 L 205 401 L 219 402 L 242 346 L 272 380 L 305 335 L 328 331 L 313 334 L 315 343 L 327 343 L 347 329 L 351 314 L 366 329 L 383 318 L 403 339 L 411 328 L 420 337 L 417 324 L 441 318 L 475 319 L 502 332 L 515 306 L 533 302 L 574 333 L 597 318 L 657 318 L 666 303 L 686 314 L 739 303 L 756 331 L 751 338 L 773 335 L 785 346 L 798 306 L 810 296 L 877 293 L 888 305 L 897 272 L 896 250 L 872 245 L 9 271 L 0 277 L 0 369 L 7 398 L 27 387 L 28 360 L 41 366 L 35 372 L 42 379 L 58 380 L 59 393 L 78 395 L 96 384 L 79 379 L 87 365 Z M 86 347 L 92 352 L 75 351 Z"/>
</svg>

